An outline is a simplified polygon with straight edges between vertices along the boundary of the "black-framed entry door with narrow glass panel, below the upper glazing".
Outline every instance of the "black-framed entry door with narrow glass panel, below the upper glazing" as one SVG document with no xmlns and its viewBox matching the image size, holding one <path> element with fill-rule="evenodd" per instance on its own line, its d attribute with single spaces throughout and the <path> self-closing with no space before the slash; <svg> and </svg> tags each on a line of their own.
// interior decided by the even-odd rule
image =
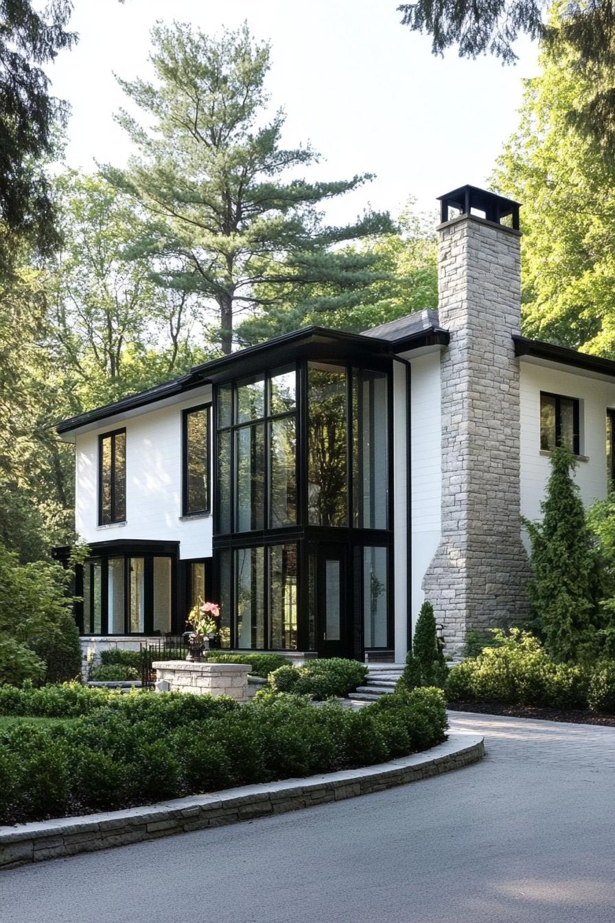
<svg viewBox="0 0 615 923">
<path fill-rule="evenodd" d="M 320 545 L 316 569 L 316 648 L 320 657 L 348 653 L 347 564 L 344 548 Z"/>
</svg>

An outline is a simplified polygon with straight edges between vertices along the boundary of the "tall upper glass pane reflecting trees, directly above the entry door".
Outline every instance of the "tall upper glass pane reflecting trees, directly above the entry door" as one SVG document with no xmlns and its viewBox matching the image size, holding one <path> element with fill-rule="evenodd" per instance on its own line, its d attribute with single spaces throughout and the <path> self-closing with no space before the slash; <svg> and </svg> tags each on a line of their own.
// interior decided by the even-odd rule
<svg viewBox="0 0 615 923">
<path fill-rule="evenodd" d="M 309 369 L 308 510 L 313 525 L 348 524 L 346 372 Z"/>
</svg>

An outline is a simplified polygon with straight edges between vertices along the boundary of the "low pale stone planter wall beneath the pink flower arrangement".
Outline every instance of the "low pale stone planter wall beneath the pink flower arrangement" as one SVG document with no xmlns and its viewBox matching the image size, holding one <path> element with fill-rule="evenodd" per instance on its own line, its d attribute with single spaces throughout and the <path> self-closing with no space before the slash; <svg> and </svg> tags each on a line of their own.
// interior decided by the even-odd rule
<svg viewBox="0 0 615 923">
<path fill-rule="evenodd" d="M 156 689 L 159 692 L 189 692 L 191 695 L 228 695 L 248 701 L 248 664 L 210 664 L 193 660 L 157 660 Z"/>
</svg>

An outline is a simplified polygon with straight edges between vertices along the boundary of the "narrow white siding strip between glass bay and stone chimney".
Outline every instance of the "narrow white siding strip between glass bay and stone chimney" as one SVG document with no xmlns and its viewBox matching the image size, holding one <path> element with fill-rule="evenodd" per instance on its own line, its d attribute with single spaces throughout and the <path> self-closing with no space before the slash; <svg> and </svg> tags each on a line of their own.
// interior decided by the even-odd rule
<svg viewBox="0 0 615 923">
<path fill-rule="evenodd" d="M 419 615 L 425 571 L 440 545 L 442 422 L 440 353 L 412 360 L 410 451 L 412 471 L 412 625 Z"/>
</svg>

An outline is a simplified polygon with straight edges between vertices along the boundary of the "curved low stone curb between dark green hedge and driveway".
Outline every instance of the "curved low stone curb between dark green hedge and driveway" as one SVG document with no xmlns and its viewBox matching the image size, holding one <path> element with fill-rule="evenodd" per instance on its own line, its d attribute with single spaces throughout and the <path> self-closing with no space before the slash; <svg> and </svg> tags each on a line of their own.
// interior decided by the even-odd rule
<svg viewBox="0 0 615 923">
<path fill-rule="evenodd" d="M 368 795 L 461 769 L 485 754 L 483 737 L 449 734 L 444 743 L 398 760 L 338 773 L 242 785 L 140 808 L 0 827 L 0 869 L 124 846 L 174 833 L 248 821 L 328 801 Z"/>
</svg>

